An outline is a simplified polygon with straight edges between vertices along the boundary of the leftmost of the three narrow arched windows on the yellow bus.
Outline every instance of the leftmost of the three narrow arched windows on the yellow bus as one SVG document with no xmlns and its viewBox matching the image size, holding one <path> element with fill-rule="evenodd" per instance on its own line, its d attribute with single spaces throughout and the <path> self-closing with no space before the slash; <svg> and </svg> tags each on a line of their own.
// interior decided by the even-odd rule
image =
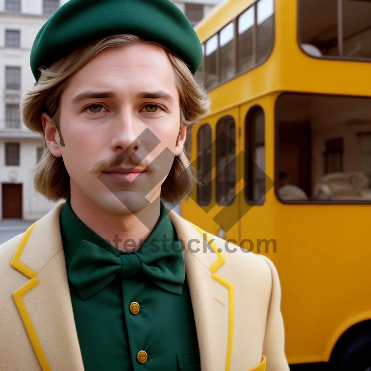
<svg viewBox="0 0 371 371">
<path fill-rule="evenodd" d="M 202 125 L 197 132 L 197 171 L 203 184 L 197 184 L 197 203 L 205 206 L 211 202 L 211 128 Z"/>
</svg>

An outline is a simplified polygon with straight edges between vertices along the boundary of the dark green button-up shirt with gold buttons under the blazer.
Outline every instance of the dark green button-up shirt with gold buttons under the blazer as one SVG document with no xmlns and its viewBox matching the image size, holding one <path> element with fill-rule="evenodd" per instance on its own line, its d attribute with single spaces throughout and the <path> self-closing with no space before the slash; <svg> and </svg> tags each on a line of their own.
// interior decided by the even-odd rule
<svg viewBox="0 0 371 371">
<path fill-rule="evenodd" d="M 128 253 L 112 246 L 82 223 L 73 212 L 69 199 L 60 214 L 60 227 L 67 272 L 82 240 L 115 256 Z M 161 240 L 164 235 L 170 242 L 177 240 L 173 224 L 161 203 L 160 218 L 138 253 L 148 254 L 151 247 L 148 240 Z M 179 275 L 184 276 L 184 260 Z M 121 275 L 116 275 L 108 285 L 85 300 L 70 279 L 69 288 L 85 371 L 200 370 L 187 279 L 181 295 L 161 289 L 143 277 L 122 278 Z M 140 306 L 137 314 L 130 310 L 132 302 Z M 140 351 L 147 353 L 144 363 L 137 359 Z"/>
</svg>

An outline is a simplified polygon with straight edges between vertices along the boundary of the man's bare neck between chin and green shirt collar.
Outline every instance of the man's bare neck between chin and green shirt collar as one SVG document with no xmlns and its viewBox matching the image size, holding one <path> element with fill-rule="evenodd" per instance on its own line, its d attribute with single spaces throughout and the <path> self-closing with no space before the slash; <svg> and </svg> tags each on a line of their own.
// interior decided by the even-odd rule
<svg viewBox="0 0 371 371">
<path fill-rule="evenodd" d="M 102 209 L 75 187 L 71 187 L 71 207 L 93 232 L 124 251 L 138 250 L 160 217 L 160 197 L 136 214 L 114 214 Z"/>
</svg>

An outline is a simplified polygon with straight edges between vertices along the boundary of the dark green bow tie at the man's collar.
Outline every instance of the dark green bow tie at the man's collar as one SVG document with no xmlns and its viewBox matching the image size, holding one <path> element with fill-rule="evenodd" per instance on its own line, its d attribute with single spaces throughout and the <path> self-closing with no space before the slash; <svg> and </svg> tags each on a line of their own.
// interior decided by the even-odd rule
<svg viewBox="0 0 371 371">
<path fill-rule="evenodd" d="M 70 263 L 68 277 L 82 299 L 104 288 L 116 276 L 121 279 L 144 276 L 158 287 L 181 295 L 185 273 L 180 241 L 164 244 L 157 250 L 115 256 L 82 240 Z"/>
</svg>

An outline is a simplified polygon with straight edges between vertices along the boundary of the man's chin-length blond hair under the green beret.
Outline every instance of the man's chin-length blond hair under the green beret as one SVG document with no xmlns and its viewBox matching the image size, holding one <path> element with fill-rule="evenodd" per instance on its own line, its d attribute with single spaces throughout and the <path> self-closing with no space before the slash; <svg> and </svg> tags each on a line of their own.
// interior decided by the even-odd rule
<svg viewBox="0 0 371 371">
<path fill-rule="evenodd" d="M 54 157 L 46 145 L 41 121 L 42 113 L 46 112 L 52 117 L 53 125 L 60 136 L 61 145 L 64 146 L 62 133 L 60 132 L 59 97 L 66 89 L 69 78 L 107 47 L 124 47 L 147 43 L 155 44 L 134 35 L 110 36 L 76 49 L 49 68 L 40 69 L 41 75 L 35 87 L 31 88 L 22 98 L 21 109 L 23 111 L 23 121 L 27 128 L 41 134 L 44 139 L 43 156 L 34 169 L 34 183 L 35 189 L 46 196 L 47 199 L 59 201 L 68 198 L 70 195 L 70 178 L 62 157 Z M 173 66 L 175 84 L 179 91 L 180 128 L 183 125 L 191 126 L 209 110 L 210 102 L 207 92 L 197 84 L 187 65 L 181 59 L 166 48 L 162 48 L 165 49 Z M 195 181 L 197 181 L 196 171 L 191 167 L 183 150 L 179 156 L 174 158 L 170 173 L 162 184 L 161 197 L 170 203 L 177 203 L 191 193 Z"/>
</svg>

